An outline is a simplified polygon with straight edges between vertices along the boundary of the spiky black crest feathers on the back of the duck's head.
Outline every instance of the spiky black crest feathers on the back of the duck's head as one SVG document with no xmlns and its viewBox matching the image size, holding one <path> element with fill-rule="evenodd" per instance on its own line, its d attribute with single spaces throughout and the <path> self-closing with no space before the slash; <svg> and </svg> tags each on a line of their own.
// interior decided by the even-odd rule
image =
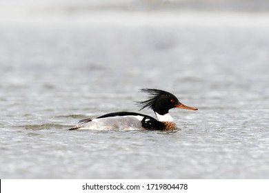
<svg viewBox="0 0 269 193">
<path fill-rule="evenodd" d="M 170 92 L 166 92 L 163 90 L 157 90 L 157 89 L 149 89 L 149 88 L 143 88 L 139 90 L 140 92 L 145 92 L 149 94 L 150 98 L 147 101 L 138 101 L 136 102 L 137 105 L 141 108 L 151 108 L 153 109 L 153 106 L 155 105 L 155 101 L 160 96 L 174 96 Z M 176 97 L 176 96 L 175 96 Z"/>
</svg>

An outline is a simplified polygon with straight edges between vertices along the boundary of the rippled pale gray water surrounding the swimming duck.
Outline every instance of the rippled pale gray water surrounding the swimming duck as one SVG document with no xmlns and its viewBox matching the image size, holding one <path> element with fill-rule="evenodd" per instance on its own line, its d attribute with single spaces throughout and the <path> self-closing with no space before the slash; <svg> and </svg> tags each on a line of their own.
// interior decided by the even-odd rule
<svg viewBox="0 0 269 193">
<path fill-rule="evenodd" d="M 0 178 L 268 179 L 269 26 L 121 19 L 0 23 Z M 138 112 L 140 88 L 199 110 L 170 110 L 176 132 L 68 130 Z"/>
</svg>

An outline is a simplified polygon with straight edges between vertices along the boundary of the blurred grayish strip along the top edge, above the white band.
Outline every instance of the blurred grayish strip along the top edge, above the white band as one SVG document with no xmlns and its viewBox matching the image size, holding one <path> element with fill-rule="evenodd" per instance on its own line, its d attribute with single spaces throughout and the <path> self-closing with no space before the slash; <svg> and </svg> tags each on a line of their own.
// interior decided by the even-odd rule
<svg viewBox="0 0 269 193">
<path fill-rule="evenodd" d="M 196 11 L 268 11 L 269 3 L 266 0 L 48 0 L 40 2 L 35 0 L 1 0 L 1 11 L 10 12 L 89 12 L 92 10 L 196 10 Z"/>
</svg>

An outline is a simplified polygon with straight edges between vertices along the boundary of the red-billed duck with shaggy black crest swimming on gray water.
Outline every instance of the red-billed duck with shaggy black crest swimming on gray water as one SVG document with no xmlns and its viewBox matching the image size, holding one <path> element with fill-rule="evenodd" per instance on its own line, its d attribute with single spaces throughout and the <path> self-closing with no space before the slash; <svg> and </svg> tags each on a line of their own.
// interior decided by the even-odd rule
<svg viewBox="0 0 269 193">
<path fill-rule="evenodd" d="M 140 110 L 152 109 L 157 119 L 137 112 L 112 112 L 94 119 L 82 119 L 70 130 L 177 130 L 177 125 L 168 112 L 170 109 L 198 110 L 183 105 L 170 92 L 157 89 L 141 89 L 140 91 L 150 95 L 147 101 L 137 102 L 137 105 L 141 107 Z"/>
</svg>

